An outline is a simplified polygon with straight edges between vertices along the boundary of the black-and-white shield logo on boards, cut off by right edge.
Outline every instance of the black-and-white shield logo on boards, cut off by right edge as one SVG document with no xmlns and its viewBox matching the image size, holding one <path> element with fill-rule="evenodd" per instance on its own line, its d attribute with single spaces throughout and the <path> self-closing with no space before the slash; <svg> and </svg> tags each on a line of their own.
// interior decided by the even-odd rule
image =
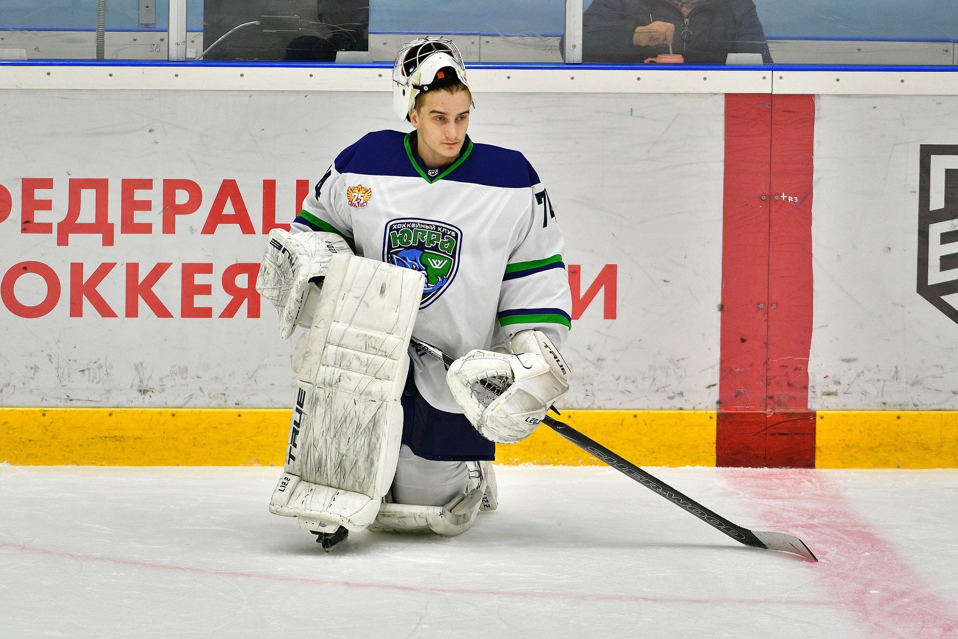
<svg viewBox="0 0 958 639">
<path fill-rule="evenodd" d="M 922 145 L 918 294 L 958 324 L 958 145 Z"/>
</svg>

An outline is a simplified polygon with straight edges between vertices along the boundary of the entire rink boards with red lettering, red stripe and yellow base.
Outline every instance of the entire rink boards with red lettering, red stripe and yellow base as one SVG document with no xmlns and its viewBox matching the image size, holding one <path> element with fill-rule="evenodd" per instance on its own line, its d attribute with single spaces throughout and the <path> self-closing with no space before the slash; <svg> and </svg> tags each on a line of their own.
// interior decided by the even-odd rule
<svg viewBox="0 0 958 639">
<path fill-rule="evenodd" d="M 252 290 L 264 234 L 341 148 L 399 127 L 383 70 L 180 89 L 117 67 L 119 90 L 11 68 L 0 456 L 278 463 L 293 343 Z M 958 463 L 955 87 L 532 73 L 476 70 L 470 135 L 526 154 L 566 238 L 570 423 L 648 465 Z M 592 463 L 549 432 L 498 456 Z"/>
</svg>

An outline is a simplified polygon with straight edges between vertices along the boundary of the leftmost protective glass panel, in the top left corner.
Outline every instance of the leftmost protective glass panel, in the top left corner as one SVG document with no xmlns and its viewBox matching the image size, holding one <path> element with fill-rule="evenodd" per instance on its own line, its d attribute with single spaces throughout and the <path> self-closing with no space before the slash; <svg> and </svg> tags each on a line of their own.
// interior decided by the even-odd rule
<svg viewBox="0 0 958 639">
<path fill-rule="evenodd" d="M 0 59 L 165 60 L 169 0 L 3 0 Z"/>
</svg>

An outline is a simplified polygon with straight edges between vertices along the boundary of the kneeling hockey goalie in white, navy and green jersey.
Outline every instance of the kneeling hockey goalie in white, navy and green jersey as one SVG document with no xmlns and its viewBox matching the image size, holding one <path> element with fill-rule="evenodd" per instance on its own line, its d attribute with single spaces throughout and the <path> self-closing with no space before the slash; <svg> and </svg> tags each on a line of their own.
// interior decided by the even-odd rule
<svg viewBox="0 0 958 639">
<path fill-rule="evenodd" d="M 468 530 L 497 504 L 495 443 L 568 390 L 562 237 L 518 151 L 474 144 L 455 44 L 405 45 L 394 107 L 269 236 L 257 289 L 304 327 L 283 476 L 269 503 L 329 550 L 350 531 Z M 410 340 L 458 359 L 418 353 Z"/>
</svg>

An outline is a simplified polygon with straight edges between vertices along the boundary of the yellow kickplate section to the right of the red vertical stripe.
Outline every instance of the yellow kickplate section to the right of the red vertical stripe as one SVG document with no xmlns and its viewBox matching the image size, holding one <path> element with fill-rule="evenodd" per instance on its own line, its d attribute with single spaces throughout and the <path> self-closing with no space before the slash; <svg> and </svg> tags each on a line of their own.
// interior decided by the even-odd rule
<svg viewBox="0 0 958 639">
<path fill-rule="evenodd" d="M 958 412 L 819 411 L 817 468 L 958 468 Z"/>
</svg>

